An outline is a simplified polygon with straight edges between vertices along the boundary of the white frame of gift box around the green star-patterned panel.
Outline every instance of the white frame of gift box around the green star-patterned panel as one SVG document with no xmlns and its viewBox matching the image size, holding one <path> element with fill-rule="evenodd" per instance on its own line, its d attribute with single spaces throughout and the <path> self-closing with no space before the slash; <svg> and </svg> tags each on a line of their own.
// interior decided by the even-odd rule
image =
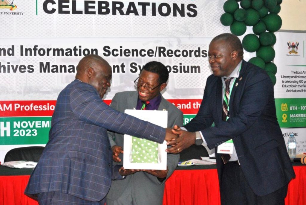
<svg viewBox="0 0 306 205">
<path fill-rule="evenodd" d="M 148 121 L 150 123 L 159 125 L 161 127 L 167 127 L 168 111 L 160 110 L 125 110 L 126 114 L 135 116 L 141 120 Z M 123 153 L 123 167 L 125 169 L 167 169 L 167 142 L 158 144 L 158 156 L 157 163 L 135 163 L 132 162 L 132 136 L 124 135 L 124 153 Z"/>
</svg>

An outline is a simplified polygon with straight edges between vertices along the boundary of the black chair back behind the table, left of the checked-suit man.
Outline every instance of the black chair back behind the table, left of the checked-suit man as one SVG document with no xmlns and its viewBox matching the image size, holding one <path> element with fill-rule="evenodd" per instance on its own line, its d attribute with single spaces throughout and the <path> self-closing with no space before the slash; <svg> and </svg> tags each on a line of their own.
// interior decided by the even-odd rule
<svg viewBox="0 0 306 205">
<path fill-rule="evenodd" d="M 6 161 L 35 161 L 38 162 L 40 155 L 43 153 L 43 146 L 18 147 L 9 150 L 4 158 Z"/>
</svg>

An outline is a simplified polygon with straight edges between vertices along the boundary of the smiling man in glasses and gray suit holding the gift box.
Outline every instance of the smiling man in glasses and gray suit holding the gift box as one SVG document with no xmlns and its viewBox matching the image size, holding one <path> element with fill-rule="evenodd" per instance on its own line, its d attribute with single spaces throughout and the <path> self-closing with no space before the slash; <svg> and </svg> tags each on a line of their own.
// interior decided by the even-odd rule
<svg viewBox="0 0 306 205">
<path fill-rule="evenodd" d="M 125 109 L 167 110 L 168 127 L 176 123 L 183 124 L 183 113 L 173 104 L 165 100 L 160 92 L 166 87 L 169 73 L 162 63 L 149 62 L 144 65 L 140 76 L 135 80 L 137 91 L 116 93 L 110 107 L 124 112 Z M 109 133 L 110 142 L 114 145 L 114 156 L 123 153 L 123 135 Z M 114 158 L 115 161 L 121 161 Z M 112 181 L 106 196 L 107 205 L 162 204 L 165 181 L 173 173 L 179 161 L 178 154 L 167 154 L 167 170 L 131 170 L 125 180 Z M 122 164 L 122 161 L 117 164 Z"/>
</svg>

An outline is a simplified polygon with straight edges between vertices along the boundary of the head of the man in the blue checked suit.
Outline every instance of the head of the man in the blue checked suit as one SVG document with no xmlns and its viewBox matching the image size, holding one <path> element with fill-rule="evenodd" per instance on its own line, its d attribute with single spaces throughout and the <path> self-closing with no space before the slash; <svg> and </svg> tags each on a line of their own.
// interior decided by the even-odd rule
<svg viewBox="0 0 306 205">
<path fill-rule="evenodd" d="M 102 98 L 110 87 L 112 70 L 110 65 L 99 55 L 87 55 L 76 67 L 76 79 L 95 87 Z"/>
</svg>

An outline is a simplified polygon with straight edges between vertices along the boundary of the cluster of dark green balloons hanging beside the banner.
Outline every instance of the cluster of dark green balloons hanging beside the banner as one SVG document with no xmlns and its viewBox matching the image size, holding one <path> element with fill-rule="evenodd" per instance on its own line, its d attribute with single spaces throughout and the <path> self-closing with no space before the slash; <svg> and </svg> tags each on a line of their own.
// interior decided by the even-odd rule
<svg viewBox="0 0 306 205">
<path fill-rule="evenodd" d="M 247 26 L 253 26 L 254 34 L 245 35 L 242 46 L 248 52 L 256 52 L 249 62 L 266 70 L 274 85 L 277 67 L 271 63 L 275 57 L 272 46 L 276 43 L 274 32 L 282 26 L 278 15 L 281 3 L 282 0 L 227 0 L 223 5 L 225 13 L 220 17 L 222 25 L 230 26 L 236 36 L 243 35 Z"/>
</svg>

